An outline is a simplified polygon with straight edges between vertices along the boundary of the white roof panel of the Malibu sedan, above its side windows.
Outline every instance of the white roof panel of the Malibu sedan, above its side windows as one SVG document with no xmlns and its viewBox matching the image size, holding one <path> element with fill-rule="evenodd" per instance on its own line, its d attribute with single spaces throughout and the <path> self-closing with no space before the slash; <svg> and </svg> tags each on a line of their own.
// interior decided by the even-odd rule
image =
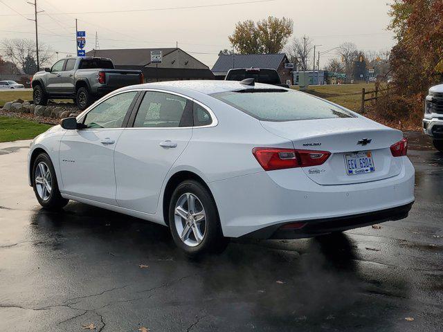
<svg viewBox="0 0 443 332">
<path fill-rule="evenodd" d="M 169 82 L 154 82 L 145 83 L 132 86 L 126 86 L 121 90 L 130 89 L 161 89 L 169 90 L 178 93 L 189 92 L 199 92 L 205 95 L 210 95 L 213 93 L 221 93 L 227 91 L 239 91 L 246 89 L 284 89 L 280 86 L 255 83 L 255 86 L 249 86 L 240 84 L 238 81 L 217 81 L 217 80 L 190 80 L 190 81 L 169 81 Z M 120 90 L 120 91 L 121 91 Z"/>
</svg>

